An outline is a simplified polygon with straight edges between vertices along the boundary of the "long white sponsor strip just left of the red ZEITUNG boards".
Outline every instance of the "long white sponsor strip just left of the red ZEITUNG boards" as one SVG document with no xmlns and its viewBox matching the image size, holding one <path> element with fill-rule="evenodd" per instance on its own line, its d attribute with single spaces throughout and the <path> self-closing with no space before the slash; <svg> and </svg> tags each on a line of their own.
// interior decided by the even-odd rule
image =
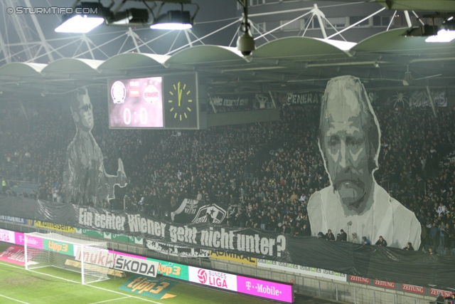
<svg viewBox="0 0 455 304">
<path fill-rule="evenodd" d="M 319 278 L 328 278 L 331 280 L 342 281 L 342 282 L 348 281 L 348 278 L 345 273 L 326 271 L 325 269 L 321 269 L 321 268 L 299 266 L 299 265 L 292 264 L 292 263 L 281 263 L 281 262 L 277 262 L 277 261 L 268 261 L 268 260 L 263 260 L 261 258 L 258 258 L 257 266 L 261 266 L 264 268 L 278 269 L 280 271 L 289 271 L 289 272 L 293 272 L 293 273 L 299 273 L 304 276 L 317 276 Z"/>
</svg>

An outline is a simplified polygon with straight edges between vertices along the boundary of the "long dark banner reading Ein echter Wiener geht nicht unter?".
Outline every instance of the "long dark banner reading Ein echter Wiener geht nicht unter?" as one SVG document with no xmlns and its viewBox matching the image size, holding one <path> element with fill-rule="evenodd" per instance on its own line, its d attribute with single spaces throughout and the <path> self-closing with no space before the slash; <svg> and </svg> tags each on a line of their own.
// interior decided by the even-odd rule
<svg viewBox="0 0 455 304">
<path fill-rule="evenodd" d="M 145 214 L 85 208 L 21 197 L 0 196 L 0 214 L 141 237 L 146 246 L 150 242 L 159 242 L 168 246 L 166 250 L 186 251 L 188 256 L 191 256 L 192 251 L 194 256 L 205 251 L 209 256 L 210 250 L 224 251 L 238 256 L 288 263 L 287 267 L 292 263 L 382 281 L 455 288 L 455 258 L 430 256 L 421 251 L 362 246 L 216 224 L 182 225 L 160 221 Z M 4 234 L 2 237 L 12 239 L 13 235 Z M 43 244 L 37 243 L 36 246 Z M 303 270 L 306 269 L 288 271 Z"/>
</svg>

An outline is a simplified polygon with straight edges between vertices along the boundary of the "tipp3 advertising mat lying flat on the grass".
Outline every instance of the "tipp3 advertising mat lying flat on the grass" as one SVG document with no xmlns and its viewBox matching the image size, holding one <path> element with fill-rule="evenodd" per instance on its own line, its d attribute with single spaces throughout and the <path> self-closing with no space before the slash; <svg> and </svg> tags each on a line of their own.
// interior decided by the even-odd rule
<svg viewBox="0 0 455 304">
<path fill-rule="evenodd" d="M 119 290 L 144 295 L 154 299 L 174 298 L 176 295 L 168 293 L 176 285 L 176 281 L 165 278 L 147 278 L 146 276 L 135 276 L 119 287 Z"/>
</svg>

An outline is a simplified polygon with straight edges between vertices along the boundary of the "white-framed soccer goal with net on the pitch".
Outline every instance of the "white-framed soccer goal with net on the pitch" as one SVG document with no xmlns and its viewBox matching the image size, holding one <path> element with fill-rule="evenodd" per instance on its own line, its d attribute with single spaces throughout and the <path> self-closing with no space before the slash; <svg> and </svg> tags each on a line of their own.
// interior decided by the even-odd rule
<svg viewBox="0 0 455 304">
<path fill-rule="evenodd" d="M 113 266 L 106 242 L 73 239 L 60 234 L 25 234 L 26 270 L 57 267 L 81 274 L 82 284 L 109 280 Z"/>
</svg>

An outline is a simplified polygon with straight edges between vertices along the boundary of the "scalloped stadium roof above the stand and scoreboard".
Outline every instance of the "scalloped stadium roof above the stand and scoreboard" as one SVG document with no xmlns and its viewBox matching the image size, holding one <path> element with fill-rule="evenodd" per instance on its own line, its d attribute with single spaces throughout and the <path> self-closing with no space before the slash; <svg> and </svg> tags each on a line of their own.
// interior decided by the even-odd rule
<svg viewBox="0 0 455 304">
<path fill-rule="evenodd" d="M 48 65 L 8 63 L 0 67 L 1 90 L 36 95 L 37 90 L 64 93 L 81 85 L 105 85 L 109 78 L 166 75 L 196 70 L 210 78 L 218 93 L 306 90 L 324 88 L 328 78 L 355 75 L 370 88 L 402 87 L 405 71 L 413 85 L 427 81 L 454 86 L 455 41 L 426 43 L 424 37 L 402 36 L 405 29 L 385 31 L 348 50 L 333 41 L 308 37 L 281 38 L 259 46 L 251 56 L 235 48 L 193 46 L 172 56 L 122 53 L 106 61 L 63 58 Z M 240 85 L 241 84 L 241 85 Z M 19 90 L 18 90 L 19 89 Z"/>
</svg>

